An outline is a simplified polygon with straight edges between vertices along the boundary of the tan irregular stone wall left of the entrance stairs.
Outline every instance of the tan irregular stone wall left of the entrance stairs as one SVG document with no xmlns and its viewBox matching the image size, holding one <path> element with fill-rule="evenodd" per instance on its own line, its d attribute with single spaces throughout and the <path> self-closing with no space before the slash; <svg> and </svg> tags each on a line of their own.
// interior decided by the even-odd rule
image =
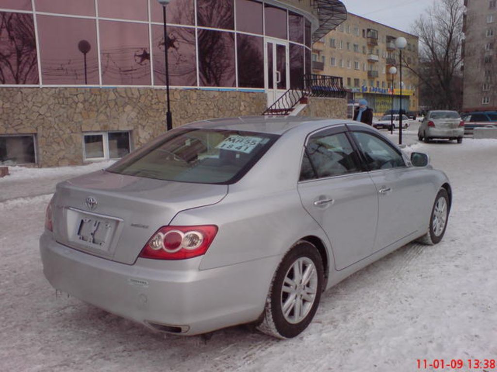
<svg viewBox="0 0 497 372">
<path fill-rule="evenodd" d="M 173 126 L 260 115 L 264 93 L 170 91 Z M 154 88 L 0 88 L 0 134 L 36 134 L 42 167 L 83 164 L 82 132 L 130 130 L 134 148 L 166 130 L 166 91 Z"/>
</svg>

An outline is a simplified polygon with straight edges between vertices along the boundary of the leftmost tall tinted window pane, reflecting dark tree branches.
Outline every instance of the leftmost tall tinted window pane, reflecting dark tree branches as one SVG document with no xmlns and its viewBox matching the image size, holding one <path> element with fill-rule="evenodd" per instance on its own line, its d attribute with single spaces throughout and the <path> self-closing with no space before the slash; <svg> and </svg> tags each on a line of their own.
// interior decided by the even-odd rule
<svg viewBox="0 0 497 372">
<path fill-rule="evenodd" d="M 0 12 L 0 84 L 38 84 L 33 16 Z"/>
</svg>

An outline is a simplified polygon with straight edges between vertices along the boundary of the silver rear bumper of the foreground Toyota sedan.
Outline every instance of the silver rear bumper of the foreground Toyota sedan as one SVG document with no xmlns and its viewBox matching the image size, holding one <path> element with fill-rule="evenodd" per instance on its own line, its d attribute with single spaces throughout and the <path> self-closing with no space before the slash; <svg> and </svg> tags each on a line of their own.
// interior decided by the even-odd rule
<svg viewBox="0 0 497 372">
<path fill-rule="evenodd" d="M 147 326 L 193 335 L 256 320 L 280 257 L 198 270 L 202 257 L 133 265 L 96 257 L 40 238 L 50 284 L 84 302 Z M 180 269 L 175 268 L 179 266 Z M 158 329 L 158 326 L 152 327 Z"/>
</svg>

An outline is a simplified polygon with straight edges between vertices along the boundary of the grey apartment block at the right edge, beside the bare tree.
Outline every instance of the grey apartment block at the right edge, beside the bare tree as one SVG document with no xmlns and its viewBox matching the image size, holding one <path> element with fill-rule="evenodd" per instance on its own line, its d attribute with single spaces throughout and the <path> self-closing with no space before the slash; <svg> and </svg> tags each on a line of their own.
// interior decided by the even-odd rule
<svg viewBox="0 0 497 372">
<path fill-rule="evenodd" d="M 465 0 L 464 111 L 497 110 L 497 0 Z"/>
</svg>

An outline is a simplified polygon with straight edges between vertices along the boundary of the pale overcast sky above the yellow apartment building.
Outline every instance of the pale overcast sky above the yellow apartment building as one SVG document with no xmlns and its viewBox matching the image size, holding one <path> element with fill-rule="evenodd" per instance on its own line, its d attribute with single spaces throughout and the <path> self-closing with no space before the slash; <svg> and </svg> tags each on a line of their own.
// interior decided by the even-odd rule
<svg viewBox="0 0 497 372">
<path fill-rule="evenodd" d="M 341 0 L 347 11 L 412 32 L 412 24 L 435 0 Z"/>
</svg>

